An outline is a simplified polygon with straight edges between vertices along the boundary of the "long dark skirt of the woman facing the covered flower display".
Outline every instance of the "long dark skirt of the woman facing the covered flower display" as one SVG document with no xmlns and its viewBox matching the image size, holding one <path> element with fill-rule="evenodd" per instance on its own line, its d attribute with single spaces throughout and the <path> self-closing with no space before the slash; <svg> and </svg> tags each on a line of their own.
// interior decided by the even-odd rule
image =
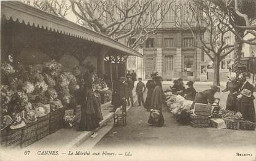
<svg viewBox="0 0 256 161">
<path fill-rule="evenodd" d="M 96 99 L 89 96 L 81 107 L 81 121 L 78 131 L 92 131 L 99 127 L 101 121 L 101 111 Z"/>
</svg>

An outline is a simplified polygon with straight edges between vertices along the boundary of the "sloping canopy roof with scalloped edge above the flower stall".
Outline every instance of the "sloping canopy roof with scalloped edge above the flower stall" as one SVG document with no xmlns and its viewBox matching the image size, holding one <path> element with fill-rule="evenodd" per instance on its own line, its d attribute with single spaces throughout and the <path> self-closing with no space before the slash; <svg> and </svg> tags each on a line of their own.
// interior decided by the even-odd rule
<svg viewBox="0 0 256 161">
<path fill-rule="evenodd" d="M 12 19 L 14 22 L 19 21 L 26 25 L 47 29 L 60 34 L 66 34 L 79 39 L 85 39 L 96 44 L 101 44 L 116 50 L 122 55 L 134 55 L 142 57 L 136 50 L 131 49 L 110 37 L 91 31 L 76 23 L 70 22 L 65 18 L 57 17 L 43 10 L 24 4 L 19 1 L 2 1 L 1 18 Z"/>
</svg>

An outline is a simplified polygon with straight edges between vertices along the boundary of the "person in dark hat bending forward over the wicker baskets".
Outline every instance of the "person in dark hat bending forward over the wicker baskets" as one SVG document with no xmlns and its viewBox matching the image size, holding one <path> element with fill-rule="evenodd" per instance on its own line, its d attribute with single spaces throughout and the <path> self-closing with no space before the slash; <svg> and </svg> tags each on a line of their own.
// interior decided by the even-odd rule
<svg viewBox="0 0 256 161">
<path fill-rule="evenodd" d="M 215 101 L 214 94 L 220 92 L 220 87 L 217 85 L 212 85 L 209 90 L 204 90 L 203 92 L 197 93 L 194 102 L 192 103 L 192 108 L 194 108 L 195 103 L 212 104 Z"/>
</svg>

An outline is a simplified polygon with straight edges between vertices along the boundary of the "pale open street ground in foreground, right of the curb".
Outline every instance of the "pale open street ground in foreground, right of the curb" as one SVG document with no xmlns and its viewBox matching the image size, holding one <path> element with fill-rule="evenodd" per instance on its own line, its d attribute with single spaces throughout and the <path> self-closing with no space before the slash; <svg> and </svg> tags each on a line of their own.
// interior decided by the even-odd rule
<svg viewBox="0 0 256 161">
<path fill-rule="evenodd" d="M 164 88 L 167 88 L 165 85 Z M 198 90 L 200 88 L 200 90 Z M 198 91 L 209 88 L 199 85 Z M 221 94 L 221 104 L 225 106 L 226 95 Z M 114 127 L 96 144 L 94 149 L 122 147 L 256 147 L 255 131 L 237 131 L 217 128 L 192 128 L 180 125 L 167 110 L 163 111 L 164 127 L 151 127 L 147 124 L 149 112 L 142 107 L 128 111 L 128 125 Z"/>
</svg>

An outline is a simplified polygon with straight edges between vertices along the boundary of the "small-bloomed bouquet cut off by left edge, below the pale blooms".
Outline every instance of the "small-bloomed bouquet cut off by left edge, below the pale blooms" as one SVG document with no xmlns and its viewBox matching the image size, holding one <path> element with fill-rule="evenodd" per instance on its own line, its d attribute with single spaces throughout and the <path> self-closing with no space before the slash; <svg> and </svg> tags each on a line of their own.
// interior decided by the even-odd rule
<svg viewBox="0 0 256 161">
<path fill-rule="evenodd" d="M 14 95 L 14 91 L 10 90 L 7 85 L 1 86 L 1 114 L 8 112 L 8 104 L 12 100 L 12 95 Z"/>
</svg>

